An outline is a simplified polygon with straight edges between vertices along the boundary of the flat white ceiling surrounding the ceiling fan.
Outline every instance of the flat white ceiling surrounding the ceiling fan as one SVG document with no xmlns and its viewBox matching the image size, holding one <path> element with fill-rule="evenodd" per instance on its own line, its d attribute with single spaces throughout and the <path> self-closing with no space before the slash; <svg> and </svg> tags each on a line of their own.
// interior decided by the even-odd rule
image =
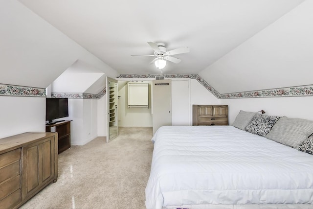
<svg viewBox="0 0 313 209">
<path fill-rule="evenodd" d="M 147 42 L 188 46 L 163 70 L 177 74 L 207 69 L 303 0 L 19 1 L 119 73 L 159 73 L 152 57 L 131 57 L 152 54 Z"/>
</svg>

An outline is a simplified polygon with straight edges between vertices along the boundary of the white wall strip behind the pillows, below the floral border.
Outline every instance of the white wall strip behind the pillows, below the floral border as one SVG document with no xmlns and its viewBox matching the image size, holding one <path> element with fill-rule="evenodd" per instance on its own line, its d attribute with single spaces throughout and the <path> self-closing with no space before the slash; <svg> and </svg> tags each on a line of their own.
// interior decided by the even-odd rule
<svg viewBox="0 0 313 209">
<path fill-rule="evenodd" d="M 221 99 L 228 105 L 228 122 L 231 125 L 240 110 L 258 112 L 268 116 L 288 116 L 313 120 L 313 96 Z"/>
</svg>

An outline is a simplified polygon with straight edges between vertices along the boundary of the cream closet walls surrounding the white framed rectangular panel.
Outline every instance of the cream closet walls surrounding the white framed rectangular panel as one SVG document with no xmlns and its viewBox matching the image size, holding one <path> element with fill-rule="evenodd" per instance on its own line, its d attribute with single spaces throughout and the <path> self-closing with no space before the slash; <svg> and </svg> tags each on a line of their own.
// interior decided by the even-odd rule
<svg viewBox="0 0 313 209">
<path fill-rule="evenodd" d="M 119 87 L 118 95 L 118 120 L 120 127 L 152 127 L 151 115 L 151 81 L 149 83 L 149 108 L 135 107 L 127 108 L 127 82 L 118 82 Z"/>
</svg>

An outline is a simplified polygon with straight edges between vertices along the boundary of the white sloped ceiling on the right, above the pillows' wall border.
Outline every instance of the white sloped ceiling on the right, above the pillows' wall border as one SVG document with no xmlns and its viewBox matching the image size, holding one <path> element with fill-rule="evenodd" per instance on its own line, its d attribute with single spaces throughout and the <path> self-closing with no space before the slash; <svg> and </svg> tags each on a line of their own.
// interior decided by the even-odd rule
<svg viewBox="0 0 313 209">
<path fill-rule="evenodd" d="M 219 93 L 313 84 L 313 0 L 307 0 L 199 75 Z"/>
</svg>

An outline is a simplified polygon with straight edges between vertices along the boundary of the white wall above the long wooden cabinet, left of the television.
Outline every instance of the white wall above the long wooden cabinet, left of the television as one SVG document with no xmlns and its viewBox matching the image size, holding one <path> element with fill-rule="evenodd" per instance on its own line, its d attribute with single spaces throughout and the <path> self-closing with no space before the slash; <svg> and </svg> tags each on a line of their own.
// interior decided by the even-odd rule
<svg viewBox="0 0 313 209">
<path fill-rule="evenodd" d="M 0 139 L 45 132 L 45 97 L 0 96 Z"/>
</svg>

